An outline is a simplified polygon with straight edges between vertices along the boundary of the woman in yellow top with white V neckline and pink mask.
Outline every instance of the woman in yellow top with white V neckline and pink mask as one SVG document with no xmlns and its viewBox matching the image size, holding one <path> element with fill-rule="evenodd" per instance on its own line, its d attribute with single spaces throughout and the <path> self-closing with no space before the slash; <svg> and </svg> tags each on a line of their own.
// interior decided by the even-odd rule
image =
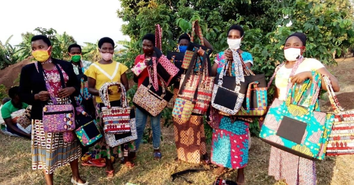
<svg viewBox="0 0 354 185">
<path fill-rule="evenodd" d="M 97 108 L 97 118 L 99 117 L 100 108 L 104 106 L 101 98 L 99 97 L 98 90 L 102 87 L 102 85 L 106 82 L 119 82 L 122 83 L 126 89 L 129 89 L 129 84 L 127 80 L 127 76 L 125 72 L 128 68 L 119 63 L 112 60 L 114 53 L 114 41 L 109 37 L 103 37 L 98 41 L 99 51 L 101 52 L 102 59 L 98 62 L 95 62 L 90 65 L 89 69 L 85 71 L 85 75 L 87 76 L 89 92 L 96 96 L 96 108 Z M 111 106 L 121 106 L 120 102 L 120 88 L 117 86 L 113 86 L 109 88 L 109 101 Z M 102 120 L 100 119 L 101 128 Z M 104 133 L 101 130 L 101 133 Z M 124 151 L 124 163 L 127 167 L 133 167 L 134 164 L 128 159 L 127 154 L 129 153 L 129 149 L 135 149 L 134 141 L 122 144 L 120 146 L 116 146 L 114 148 L 107 146 L 105 138 L 102 137 L 101 141 L 99 141 L 94 150 L 96 153 L 95 158 L 105 158 L 106 159 L 106 173 L 107 177 L 114 176 L 114 168 L 111 159 L 115 157 L 122 157 Z"/>
</svg>

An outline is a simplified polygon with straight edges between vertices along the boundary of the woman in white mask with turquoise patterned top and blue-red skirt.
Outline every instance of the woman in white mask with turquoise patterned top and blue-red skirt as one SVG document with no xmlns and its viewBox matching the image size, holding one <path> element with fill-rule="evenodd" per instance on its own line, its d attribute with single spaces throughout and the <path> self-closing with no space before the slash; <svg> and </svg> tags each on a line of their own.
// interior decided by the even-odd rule
<svg viewBox="0 0 354 185">
<path fill-rule="evenodd" d="M 241 40 L 244 30 L 239 25 L 233 25 L 227 32 L 227 43 L 231 50 L 240 54 L 245 65 L 250 68 L 253 64 L 251 53 L 240 50 Z M 226 60 L 233 60 L 232 51 L 226 50 L 218 53 L 212 67 L 212 74 L 216 76 L 221 73 Z M 234 64 L 232 64 L 231 74 L 235 76 Z M 249 150 L 249 123 L 234 119 L 228 116 L 221 116 L 218 128 L 213 128 L 211 162 L 218 165 L 215 172 L 221 174 L 225 168 L 238 169 L 237 183 L 244 184 L 244 167 L 248 163 Z"/>
</svg>

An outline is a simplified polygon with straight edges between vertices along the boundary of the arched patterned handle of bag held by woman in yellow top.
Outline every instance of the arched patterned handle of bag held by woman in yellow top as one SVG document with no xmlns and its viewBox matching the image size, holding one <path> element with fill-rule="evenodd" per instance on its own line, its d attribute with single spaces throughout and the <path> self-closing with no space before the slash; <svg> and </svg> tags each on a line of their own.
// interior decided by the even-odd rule
<svg viewBox="0 0 354 185">
<path fill-rule="evenodd" d="M 104 106 L 106 106 L 108 109 L 111 108 L 110 101 L 109 101 L 108 88 L 112 87 L 112 86 L 118 86 L 118 88 L 121 89 L 120 102 L 121 102 L 122 107 L 126 108 L 128 106 L 128 103 L 127 103 L 127 98 L 126 98 L 125 87 L 122 83 L 119 83 L 119 82 L 106 82 L 99 89 L 99 96 L 101 97 Z"/>
</svg>

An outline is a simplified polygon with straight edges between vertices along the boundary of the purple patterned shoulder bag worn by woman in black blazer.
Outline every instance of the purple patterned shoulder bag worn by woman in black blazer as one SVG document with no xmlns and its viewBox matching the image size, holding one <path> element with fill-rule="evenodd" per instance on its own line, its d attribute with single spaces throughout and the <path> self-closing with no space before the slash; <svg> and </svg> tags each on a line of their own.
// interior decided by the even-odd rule
<svg viewBox="0 0 354 185">
<path fill-rule="evenodd" d="M 35 64 L 38 65 L 36 62 Z M 62 70 L 59 68 L 58 64 L 55 64 L 58 69 L 62 88 L 65 88 L 65 81 Z M 38 65 L 38 69 L 43 71 L 42 65 Z M 52 87 L 50 86 L 47 76 L 43 71 L 44 80 L 46 83 L 47 91 L 53 102 L 53 105 L 44 105 L 42 121 L 44 132 L 70 132 L 75 129 L 75 110 L 72 104 L 58 104 L 57 98 L 54 96 Z M 71 101 L 70 101 L 71 102 Z M 73 140 L 73 134 L 64 134 L 64 140 Z"/>
</svg>

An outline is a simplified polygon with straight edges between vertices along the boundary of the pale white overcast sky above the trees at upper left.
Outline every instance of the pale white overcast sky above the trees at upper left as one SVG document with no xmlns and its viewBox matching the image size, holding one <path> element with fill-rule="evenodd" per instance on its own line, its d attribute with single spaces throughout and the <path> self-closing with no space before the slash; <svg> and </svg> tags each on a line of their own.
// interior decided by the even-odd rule
<svg viewBox="0 0 354 185">
<path fill-rule="evenodd" d="M 104 36 L 129 40 L 120 31 L 124 23 L 117 17 L 118 8 L 119 0 L 0 0 L 0 40 L 4 43 L 13 35 L 10 44 L 17 45 L 21 33 L 37 27 L 66 31 L 80 45 Z"/>
</svg>

